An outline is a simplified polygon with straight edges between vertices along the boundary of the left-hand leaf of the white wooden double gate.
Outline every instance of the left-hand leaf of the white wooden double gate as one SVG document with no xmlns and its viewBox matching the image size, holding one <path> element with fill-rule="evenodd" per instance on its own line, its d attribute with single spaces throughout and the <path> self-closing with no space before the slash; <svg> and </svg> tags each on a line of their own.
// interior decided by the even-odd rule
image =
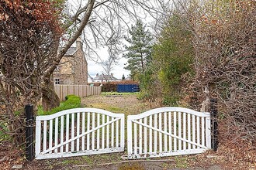
<svg viewBox="0 0 256 170">
<path fill-rule="evenodd" d="M 123 151 L 124 126 L 124 114 L 95 108 L 37 116 L 35 157 L 62 158 Z"/>
</svg>

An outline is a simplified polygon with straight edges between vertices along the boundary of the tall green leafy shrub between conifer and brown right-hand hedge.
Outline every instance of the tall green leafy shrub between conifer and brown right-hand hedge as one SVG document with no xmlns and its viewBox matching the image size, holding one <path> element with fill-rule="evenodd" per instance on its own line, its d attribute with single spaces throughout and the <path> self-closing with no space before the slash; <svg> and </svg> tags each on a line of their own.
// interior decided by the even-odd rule
<svg viewBox="0 0 256 170">
<path fill-rule="evenodd" d="M 177 106 L 182 97 L 186 74 L 192 74 L 194 50 L 192 33 L 182 15 L 172 15 L 161 37 L 154 46 L 154 59 L 159 65 L 158 79 L 161 81 L 164 104 Z M 188 77 L 187 77 L 188 78 Z"/>
</svg>

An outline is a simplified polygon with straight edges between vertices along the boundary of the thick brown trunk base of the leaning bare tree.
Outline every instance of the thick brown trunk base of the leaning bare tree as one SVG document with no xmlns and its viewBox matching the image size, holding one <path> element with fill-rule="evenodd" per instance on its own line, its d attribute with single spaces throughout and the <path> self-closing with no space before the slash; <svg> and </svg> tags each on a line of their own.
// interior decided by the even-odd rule
<svg viewBox="0 0 256 170">
<path fill-rule="evenodd" d="M 53 109 L 54 107 L 60 106 L 60 99 L 54 90 L 53 76 L 47 77 L 47 79 L 44 80 L 42 93 L 43 93 L 42 105 L 43 105 L 44 111 L 48 111 Z"/>
</svg>

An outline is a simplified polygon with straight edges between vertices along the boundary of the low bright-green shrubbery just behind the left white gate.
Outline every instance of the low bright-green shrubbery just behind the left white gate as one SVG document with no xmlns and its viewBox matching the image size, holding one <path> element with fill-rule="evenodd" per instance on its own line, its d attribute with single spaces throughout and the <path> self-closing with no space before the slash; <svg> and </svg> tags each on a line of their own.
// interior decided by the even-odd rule
<svg viewBox="0 0 256 170">
<path fill-rule="evenodd" d="M 81 107 L 81 98 L 75 95 L 67 95 L 66 100 L 61 102 L 59 107 L 55 107 L 50 111 L 43 111 L 43 107 L 39 106 L 37 115 L 50 115 L 55 114 L 62 110 Z"/>
</svg>

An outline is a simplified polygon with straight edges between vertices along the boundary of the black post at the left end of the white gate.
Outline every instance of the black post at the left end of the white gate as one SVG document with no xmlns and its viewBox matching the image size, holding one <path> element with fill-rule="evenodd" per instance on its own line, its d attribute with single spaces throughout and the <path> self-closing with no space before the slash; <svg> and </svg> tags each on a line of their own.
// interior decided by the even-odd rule
<svg viewBox="0 0 256 170">
<path fill-rule="evenodd" d="M 33 143 L 33 105 L 27 104 L 25 106 L 26 114 L 26 159 L 32 161 L 34 157 L 34 143 Z"/>
</svg>

